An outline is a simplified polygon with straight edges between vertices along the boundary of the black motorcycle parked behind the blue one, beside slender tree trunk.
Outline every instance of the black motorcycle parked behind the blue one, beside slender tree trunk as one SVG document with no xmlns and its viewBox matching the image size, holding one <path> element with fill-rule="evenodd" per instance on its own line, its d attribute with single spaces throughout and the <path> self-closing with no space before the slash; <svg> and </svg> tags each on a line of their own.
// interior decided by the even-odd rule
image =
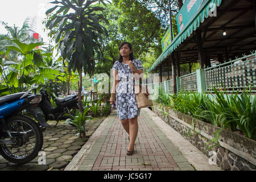
<svg viewBox="0 0 256 182">
<path fill-rule="evenodd" d="M 41 107 L 44 118 L 47 121 L 55 120 L 57 121 L 56 125 L 61 120 L 68 119 L 70 116 L 65 114 L 75 114 L 72 112 L 72 109 L 79 109 L 79 101 L 77 95 L 71 95 L 64 98 L 55 98 L 56 107 L 53 107 L 51 101 L 49 100 L 47 90 L 40 90 L 40 94 L 42 95 L 42 101 L 39 106 Z M 55 125 L 55 126 L 56 126 Z"/>
</svg>

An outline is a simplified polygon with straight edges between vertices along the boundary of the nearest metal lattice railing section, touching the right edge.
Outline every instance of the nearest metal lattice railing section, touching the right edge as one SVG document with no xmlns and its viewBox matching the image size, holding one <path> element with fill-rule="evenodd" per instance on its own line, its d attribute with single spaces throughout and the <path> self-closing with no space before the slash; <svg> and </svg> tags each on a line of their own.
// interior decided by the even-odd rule
<svg viewBox="0 0 256 182">
<path fill-rule="evenodd" d="M 250 88 L 256 92 L 256 57 L 243 56 L 236 60 L 204 69 L 206 89 L 237 90 Z"/>
</svg>

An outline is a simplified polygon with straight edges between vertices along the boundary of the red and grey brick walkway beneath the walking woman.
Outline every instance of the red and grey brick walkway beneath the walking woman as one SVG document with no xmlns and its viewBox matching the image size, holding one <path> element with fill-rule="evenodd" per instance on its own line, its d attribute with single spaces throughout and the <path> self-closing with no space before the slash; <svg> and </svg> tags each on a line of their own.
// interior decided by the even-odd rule
<svg viewBox="0 0 256 182">
<path fill-rule="evenodd" d="M 134 153 L 127 156 L 128 134 L 116 117 L 116 112 L 112 112 L 104 130 L 80 162 L 79 170 L 195 170 L 143 110 L 138 123 Z"/>
</svg>

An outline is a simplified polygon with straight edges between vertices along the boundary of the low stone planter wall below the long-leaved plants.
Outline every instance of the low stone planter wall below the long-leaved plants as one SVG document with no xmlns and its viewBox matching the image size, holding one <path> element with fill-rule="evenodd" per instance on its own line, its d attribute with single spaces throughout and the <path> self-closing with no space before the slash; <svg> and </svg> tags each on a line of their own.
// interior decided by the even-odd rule
<svg viewBox="0 0 256 182">
<path fill-rule="evenodd" d="M 222 130 L 218 144 L 210 142 L 220 127 L 192 118 L 168 107 L 154 105 L 152 111 L 224 170 L 255 171 L 256 141 Z M 210 146 L 214 146 L 210 148 Z"/>
</svg>

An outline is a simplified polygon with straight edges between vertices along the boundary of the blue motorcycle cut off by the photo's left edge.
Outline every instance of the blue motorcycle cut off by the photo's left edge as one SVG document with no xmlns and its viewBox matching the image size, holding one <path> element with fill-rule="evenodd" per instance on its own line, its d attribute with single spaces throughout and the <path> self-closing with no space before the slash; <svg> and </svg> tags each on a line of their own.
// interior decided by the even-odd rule
<svg viewBox="0 0 256 182">
<path fill-rule="evenodd" d="M 40 101 L 36 89 L 0 98 L 0 154 L 9 162 L 30 162 L 42 149 L 43 131 L 48 123 L 38 107 Z"/>
</svg>

